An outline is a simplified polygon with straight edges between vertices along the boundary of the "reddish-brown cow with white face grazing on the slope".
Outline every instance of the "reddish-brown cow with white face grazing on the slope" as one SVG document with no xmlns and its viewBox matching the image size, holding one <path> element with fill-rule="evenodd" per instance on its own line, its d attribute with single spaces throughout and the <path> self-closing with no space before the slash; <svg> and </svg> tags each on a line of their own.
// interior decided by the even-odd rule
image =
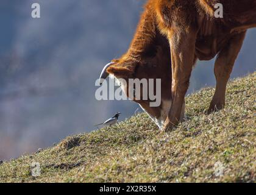
<svg viewBox="0 0 256 195">
<path fill-rule="evenodd" d="M 215 18 L 217 3 L 224 7 L 223 18 Z M 129 50 L 105 66 L 101 78 L 112 74 L 117 79 L 162 79 L 159 107 L 137 102 L 162 130 L 172 129 L 183 118 L 197 59 L 218 55 L 216 90 L 208 113 L 224 107 L 227 81 L 251 27 L 256 27 L 256 0 L 149 0 Z"/>
</svg>

